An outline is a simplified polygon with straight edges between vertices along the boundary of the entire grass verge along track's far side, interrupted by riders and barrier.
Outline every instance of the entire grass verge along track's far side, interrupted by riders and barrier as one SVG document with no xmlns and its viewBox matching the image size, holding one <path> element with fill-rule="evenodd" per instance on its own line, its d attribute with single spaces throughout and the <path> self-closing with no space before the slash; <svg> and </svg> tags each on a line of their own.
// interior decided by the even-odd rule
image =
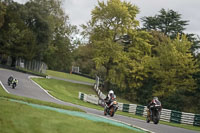
<svg viewBox="0 0 200 133">
<path fill-rule="evenodd" d="M 81 101 L 80 99 L 78 99 L 78 92 L 83 92 L 86 94 L 96 94 L 91 86 L 80 85 L 80 84 L 65 82 L 65 81 L 61 81 L 61 80 L 55 80 L 55 79 L 36 79 L 35 78 L 33 80 L 36 81 L 37 83 L 39 83 L 44 89 L 48 90 L 50 94 L 57 97 L 58 99 L 61 99 L 63 101 L 67 101 L 67 102 L 71 102 L 74 104 L 98 109 L 98 110 L 103 110 L 103 108 L 100 106 L 97 106 L 97 105 L 94 105 L 91 103 L 87 103 L 87 102 L 84 102 L 84 101 Z M 124 99 L 120 99 L 119 97 L 117 97 L 117 101 L 118 102 L 124 101 L 122 103 L 130 103 Z M 117 111 L 117 114 L 136 118 L 136 119 L 145 120 L 145 118 L 142 116 L 137 116 L 137 115 L 133 115 L 133 114 L 126 113 L 126 112 Z M 164 121 L 160 121 L 160 123 L 169 125 L 169 126 L 200 131 L 200 127 L 196 127 L 196 126 L 192 126 L 192 125 L 169 123 L 169 122 L 164 122 Z"/>
</svg>

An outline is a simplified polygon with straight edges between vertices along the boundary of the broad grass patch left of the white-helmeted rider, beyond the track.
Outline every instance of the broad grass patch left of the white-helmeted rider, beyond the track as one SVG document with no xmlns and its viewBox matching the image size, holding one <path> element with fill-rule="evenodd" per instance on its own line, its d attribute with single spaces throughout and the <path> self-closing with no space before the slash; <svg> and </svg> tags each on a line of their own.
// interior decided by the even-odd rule
<svg viewBox="0 0 200 133">
<path fill-rule="evenodd" d="M 79 92 L 96 95 L 96 92 L 93 90 L 91 86 L 75 84 L 56 79 L 33 78 L 33 80 L 38 84 L 40 84 L 44 89 L 48 90 L 48 92 L 51 95 L 55 96 L 60 100 L 90 108 L 103 110 L 103 108 L 100 106 L 81 101 L 78 98 Z"/>
</svg>

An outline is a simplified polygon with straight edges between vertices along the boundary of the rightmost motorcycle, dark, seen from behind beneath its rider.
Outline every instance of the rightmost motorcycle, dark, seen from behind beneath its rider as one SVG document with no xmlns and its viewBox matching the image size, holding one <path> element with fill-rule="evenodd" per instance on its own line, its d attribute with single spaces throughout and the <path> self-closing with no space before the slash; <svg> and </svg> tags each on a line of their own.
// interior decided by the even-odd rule
<svg viewBox="0 0 200 133">
<path fill-rule="evenodd" d="M 158 124 L 160 120 L 161 104 L 152 105 L 150 106 L 150 109 L 152 110 L 152 115 L 150 115 L 150 110 L 147 110 L 147 118 L 146 118 L 147 123 L 153 121 L 154 124 Z"/>
</svg>

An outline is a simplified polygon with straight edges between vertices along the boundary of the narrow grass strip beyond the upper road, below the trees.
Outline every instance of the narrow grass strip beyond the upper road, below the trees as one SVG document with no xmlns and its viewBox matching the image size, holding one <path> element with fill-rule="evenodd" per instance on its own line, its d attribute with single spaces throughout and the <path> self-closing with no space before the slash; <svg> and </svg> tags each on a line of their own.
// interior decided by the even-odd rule
<svg viewBox="0 0 200 133">
<path fill-rule="evenodd" d="M 76 80 L 76 81 L 82 81 L 82 82 L 88 82 L 88 83 L 95 83 L 95 80 L 93 80 L 93 79 L 89 79 L 89 78 L 82 77 L 82 76 L 75 75 L 75 74 L 57 72 L 57 71 L 52 71 L 52 70 L 47 70 L 46 74 L 50 75 L 50 76 L 64 78 L 64 79 L 70 79 L 70 80 Z"/>
</svg>

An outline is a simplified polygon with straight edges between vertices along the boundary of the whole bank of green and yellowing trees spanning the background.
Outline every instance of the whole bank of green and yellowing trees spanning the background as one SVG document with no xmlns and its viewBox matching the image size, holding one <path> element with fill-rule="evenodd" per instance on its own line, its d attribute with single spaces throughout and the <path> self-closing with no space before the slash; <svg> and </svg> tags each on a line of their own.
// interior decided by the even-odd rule
<svg viewBox="0 0 200 133">
<path fill-rule="evenodd" d="M 99 1 L 78 28 L 61 0 L 0 1 L 0 61 L 40 60 L 49 69 L 81 73 L 102 81 L 101 89 L 146 105 L 158 96 L 163 107 L 200 113 L 200 39 L 185 33 L 188 20 L 173 10 L 136 19 L 139 7 L 120 0 Z"/>
</svg>

